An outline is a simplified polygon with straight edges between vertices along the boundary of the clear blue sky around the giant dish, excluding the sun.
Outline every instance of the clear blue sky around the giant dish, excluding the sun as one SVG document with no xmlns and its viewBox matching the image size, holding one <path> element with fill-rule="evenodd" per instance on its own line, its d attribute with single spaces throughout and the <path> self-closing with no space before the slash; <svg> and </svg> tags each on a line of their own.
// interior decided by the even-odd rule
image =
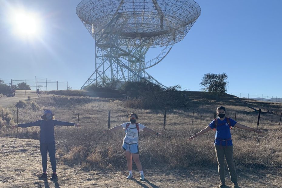
<svg viewBox="0 0 282 188">
<path fill-rule="evenodd" d="M 200 91 L 207 72 L 225 72 L 228 93 L 282 97 L 282 1 L 195 1 L 202 12 L 192 29 L 147 72 L 189 91 Z M 0 0 L 0 78 L 37 76 L 80 88 L 94 72 L 95 41 L 76 15 L 79 2 Z M 11 10 L 18 7 L 39 18 L 38 34 L 15 32 Z M 158 53 L 149 50 L 146 60 Z"/>
</svg>

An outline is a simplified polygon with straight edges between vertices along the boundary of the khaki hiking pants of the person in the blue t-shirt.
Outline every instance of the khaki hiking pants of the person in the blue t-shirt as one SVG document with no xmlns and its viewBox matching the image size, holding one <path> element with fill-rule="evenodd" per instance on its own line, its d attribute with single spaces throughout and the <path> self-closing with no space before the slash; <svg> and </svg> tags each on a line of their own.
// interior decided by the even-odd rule
<svg viewBox="0 0 282 188">
<path fill-rule="evenodd" d="M 214 147 L 215 147 L 215 153 L 217 154 L 217 164 L 218 164 L 218 173 L 219 173 L 220 182 L 225 182 L 224 156 L 226 158 L 231 181 L 233 183 L 237 182 L 237 174 L 233 160 L 233 146 L 226 147 L 226 146 L 214 145 Z"/>
</svg>

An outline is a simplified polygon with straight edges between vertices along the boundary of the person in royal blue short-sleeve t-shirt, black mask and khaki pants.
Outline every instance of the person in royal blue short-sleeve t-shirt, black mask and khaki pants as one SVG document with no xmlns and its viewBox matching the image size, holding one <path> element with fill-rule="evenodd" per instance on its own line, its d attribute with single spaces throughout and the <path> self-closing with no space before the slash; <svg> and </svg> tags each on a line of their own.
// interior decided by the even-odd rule
<svg viewBox="0 0 282 188">
<path fill-rule="evenodd" d="M 218 173 L 220 179 L 219 187 L 225 187 L 225 175 L 224 175 L 224 156 L 226 158 L 227 167 L 229 170 L 230 178 L 233 183 L 233 188 L 238 188 L 237 173 L 234 167 L 233 160 L 233 143 L 231 139 L 230 127 L 238 127 L 240 129 L 246 129 L 254 131 L 256 133 L 262 133 L 262 131 L 253 129 L 251 127 L 237 123 L 231 118 L 225 117 L 225 107 L 220 106 L 217 108 L 217 115 L 219 118 L 214 119 L 209 126 L 201 130 L 199 133 L 191 136 L 189 140 L 193 140 L 197 136 L 200 136 L 211 129 L 216 129 L 214 147 L 217 155 Z"/>
</svg>

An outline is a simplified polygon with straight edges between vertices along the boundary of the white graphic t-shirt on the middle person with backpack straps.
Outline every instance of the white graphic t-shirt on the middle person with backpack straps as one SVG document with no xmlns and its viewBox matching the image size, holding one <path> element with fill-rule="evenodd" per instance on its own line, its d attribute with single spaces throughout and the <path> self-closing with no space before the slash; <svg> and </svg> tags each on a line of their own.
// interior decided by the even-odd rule
<svg viewBox="0 0 282 188">
<path fill-rule="evenodd" d="M 130 122 L 127 122 L 130 123 Z M 127 123 L 123 123 L 121 126 L 123 126 L 123 129 L 126 128 L 126 124 Z M 139 124 L 139 132 L 143 131 L 144 129 L 144 125 Z M 127 143 L 127 144 L 134 144 L 134 143 L 138 143 L 138 130 L 136 129 L 136 124 L 131 124 L 128 126 L 128 128 L 126 129 L 126 134 L 125 137 L 123 139 L 123 142 Z"/>
</svg>

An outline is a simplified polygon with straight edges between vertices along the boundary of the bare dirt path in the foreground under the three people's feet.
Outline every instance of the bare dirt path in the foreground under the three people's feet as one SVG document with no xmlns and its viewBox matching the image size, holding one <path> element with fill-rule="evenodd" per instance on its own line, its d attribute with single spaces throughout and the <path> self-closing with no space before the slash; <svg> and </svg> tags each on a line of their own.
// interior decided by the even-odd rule
<svg viewBox="0 0 282 188">
<path fill-rule="evenodd" d="M 216 169 L 190 170 L 150 170 L 145 172 L 145 181 L 139 181 L 137 170 L 133 170 L 136 179 L 126 180 L 126 170 L 93 170 L 83 171 L 79 167 L 69 167 L 60 164 L 57 182 L 38 180 L 42 173 L 41 156 L 38 140 L 0 138 L 0 187 L 217 187 L 218 175 Z M 48 160 L 47 169 L 51 166 Z M 50 176 L 50 174 L 49 174 Z M 261 172 L 238 172 L 241 187 L 281 187 L 281 175 Z M 50 178 L 50 177 L 49 177 Z M 227 185 L 231 186 L 227 179 Z"/>
</svg>

